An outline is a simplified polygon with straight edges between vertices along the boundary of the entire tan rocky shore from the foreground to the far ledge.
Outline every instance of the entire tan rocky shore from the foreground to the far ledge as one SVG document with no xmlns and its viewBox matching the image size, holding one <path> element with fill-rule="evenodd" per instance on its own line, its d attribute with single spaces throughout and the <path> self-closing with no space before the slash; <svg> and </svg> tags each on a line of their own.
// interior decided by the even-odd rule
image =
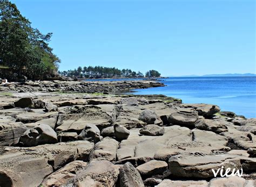
<svg viewBox="0 0 256 187">
<path fill-rule="evenodd" d="M 255 186 L 256 119 L 163 95 L 113 94 L 158 86 L 0 86 L 0 186 Z M 214 177 L 221 167 L 243 175 Z"/>
</svg>

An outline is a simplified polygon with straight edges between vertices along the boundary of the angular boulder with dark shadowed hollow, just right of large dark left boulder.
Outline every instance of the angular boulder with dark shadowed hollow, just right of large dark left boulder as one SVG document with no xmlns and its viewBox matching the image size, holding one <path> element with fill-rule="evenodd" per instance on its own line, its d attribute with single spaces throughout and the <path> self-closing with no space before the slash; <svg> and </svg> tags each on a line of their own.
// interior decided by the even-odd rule
<svg viewBox="0 0 256 187">
<path fill-rule="evenodd" d="M 100 131 L 96 125 L 87 124 L 84 130 L 78 135 L 78 140 L 87 140 L 97 143 L 100 141 Z"/>
</svg>

